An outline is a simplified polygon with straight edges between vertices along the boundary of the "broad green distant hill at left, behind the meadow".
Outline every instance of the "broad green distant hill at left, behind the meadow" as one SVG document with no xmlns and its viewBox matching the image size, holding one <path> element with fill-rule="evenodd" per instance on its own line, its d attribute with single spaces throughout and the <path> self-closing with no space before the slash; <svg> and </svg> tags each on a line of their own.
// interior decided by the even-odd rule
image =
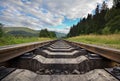
<svg viewBox="0 0 120 81">
<path fill-rule="evenodd" d="M 38 36 L 39 33 L 39 31 L 25 27 L 4 27 L 3 30 L 5 31 L 5 33 L 14 36 Z"/>
</svg>

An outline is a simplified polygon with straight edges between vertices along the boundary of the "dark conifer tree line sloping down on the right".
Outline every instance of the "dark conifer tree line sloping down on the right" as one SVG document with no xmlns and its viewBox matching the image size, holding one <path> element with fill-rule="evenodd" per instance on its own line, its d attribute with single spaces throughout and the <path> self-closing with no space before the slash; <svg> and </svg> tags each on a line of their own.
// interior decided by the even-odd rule
<svg viewBox="0 0 120 81">
<path fill-rule="evenodd" d="M 95 14 L 88 14 L 77 25 L 73 25 L 68 37 L 85 34 L 120 33 L 120 0 L 114 0 L 114 6 L 109 9 L 106 2 L 97 5 Z"/>
</svg>

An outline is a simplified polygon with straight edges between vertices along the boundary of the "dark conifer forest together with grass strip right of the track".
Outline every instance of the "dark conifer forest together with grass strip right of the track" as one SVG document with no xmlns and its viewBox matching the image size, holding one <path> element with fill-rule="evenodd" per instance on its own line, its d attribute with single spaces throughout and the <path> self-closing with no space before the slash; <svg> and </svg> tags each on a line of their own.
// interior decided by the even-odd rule
<svg viewBox="0 0 120 81">
<path fill-rule="evenodd" d="M 70 41 L 120 49 L 120 1 L 114 0 L 111 9 L 105 2 L 101 8 L 97 5 L 95 14 L 73 25 L 67 36 Z"/>
</svg>

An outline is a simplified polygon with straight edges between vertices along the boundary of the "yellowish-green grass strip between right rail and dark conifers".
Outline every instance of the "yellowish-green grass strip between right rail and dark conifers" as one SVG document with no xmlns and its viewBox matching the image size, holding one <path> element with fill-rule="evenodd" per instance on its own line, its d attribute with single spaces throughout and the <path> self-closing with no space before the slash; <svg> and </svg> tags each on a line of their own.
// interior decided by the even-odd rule
<svg viewBox="0 0 120 81">
<path fill-rule="evenodd" d="M 67 40 L 120 49 L 120 34 L 81 35 L 81 36 L 68 38 Z"/>
</svg>

